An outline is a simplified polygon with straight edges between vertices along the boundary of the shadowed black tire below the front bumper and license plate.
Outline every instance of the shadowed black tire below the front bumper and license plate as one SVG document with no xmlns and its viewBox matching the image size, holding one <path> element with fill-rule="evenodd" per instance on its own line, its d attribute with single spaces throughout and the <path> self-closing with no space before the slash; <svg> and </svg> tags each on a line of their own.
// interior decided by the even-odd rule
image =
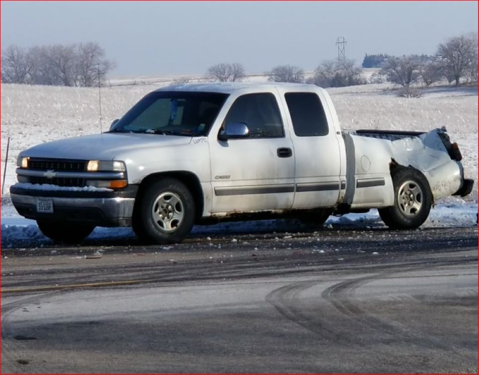
<svg viewBox="0 0 479 375">
<path fill-rule="evenodd" d="M 40 231 L 55 242 L 79 243 L 95 229 L 95 225 L 47 222 L 37 220 Z"/>
</svg>

